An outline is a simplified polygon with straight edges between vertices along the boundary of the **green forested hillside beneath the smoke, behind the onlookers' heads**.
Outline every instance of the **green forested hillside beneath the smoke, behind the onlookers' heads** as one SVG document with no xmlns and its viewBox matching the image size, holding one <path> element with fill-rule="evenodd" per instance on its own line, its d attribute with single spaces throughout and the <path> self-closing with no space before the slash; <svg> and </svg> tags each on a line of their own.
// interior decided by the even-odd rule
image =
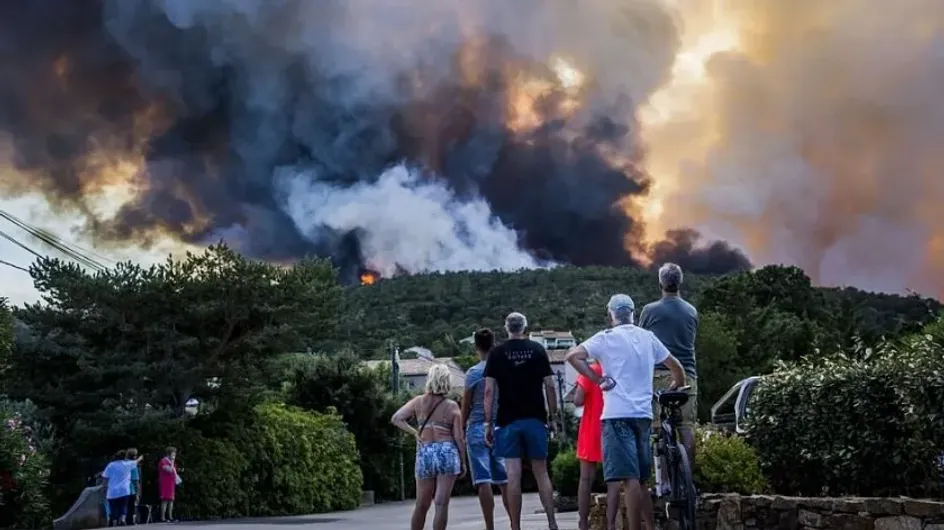
<svg viewBox="0 0 944 530">
<path fill-rule="evenodd" d="M 631 268 L 561 267 L 381 280 L 347 289 L 339 340 L 326 346 L 347 345 L 362 356 L 376 356 L 394 340 L 436 352 L 477 327 L 500 328 L 511 311 L 527 315 L 533 329 L 571 330 L 580 339 L 605 325 L 604 306 L 616 292 L 631 295 L 641 308 L 659 296 L 656 275 Z M 858 334 L 874 341 L 915 331 L 941 308 L 940 302 L 917 296 L 815 288 L 794 267 L 765 267 L 720 279 L 687 275 L 683 294 L 702 313 L 728 315 L 744 324 L 751 317 L 796 319 L 792 323 L 815 324 L 834 340 Z M 751 315 L 765 307 L 762 315 Z"/>
</svg>

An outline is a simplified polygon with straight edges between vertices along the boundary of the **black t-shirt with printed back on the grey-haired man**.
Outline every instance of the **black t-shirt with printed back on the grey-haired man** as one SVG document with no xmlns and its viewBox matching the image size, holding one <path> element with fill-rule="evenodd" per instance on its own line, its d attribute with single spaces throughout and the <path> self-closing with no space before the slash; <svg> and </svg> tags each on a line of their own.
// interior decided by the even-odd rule
<svg viewBox="0 0 944 530">
<path fill-rule="evenodd" d="M 498 418 L 505 426 L 521 419 L 547 421 L 544 378 L 553 375 L 547 351 L 528 339 L 508 339 L 488 355 L 485 377 L 498 386 Z"/>
</svg>

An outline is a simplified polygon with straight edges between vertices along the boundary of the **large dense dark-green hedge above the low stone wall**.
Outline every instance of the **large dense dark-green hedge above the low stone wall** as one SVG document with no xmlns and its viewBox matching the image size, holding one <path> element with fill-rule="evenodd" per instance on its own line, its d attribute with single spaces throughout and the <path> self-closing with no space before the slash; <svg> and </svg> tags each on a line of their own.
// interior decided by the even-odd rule
<svg viewBox="0 0 944 530">
<path fill-rule="evenodd" d="M 749 436 L 777 493 L 937 496 L 944 351 L 932 335 L 780 366 L 751 397 Z"/>
</svg>

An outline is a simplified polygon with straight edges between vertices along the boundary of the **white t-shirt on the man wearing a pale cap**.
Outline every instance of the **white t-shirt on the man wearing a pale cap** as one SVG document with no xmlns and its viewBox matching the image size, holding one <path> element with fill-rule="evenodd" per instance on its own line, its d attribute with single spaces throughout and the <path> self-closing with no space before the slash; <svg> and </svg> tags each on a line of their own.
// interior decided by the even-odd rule
<svg viewBox="0 0 944 530">
<path fill-rule="evenodd" d="M 603 394 L 601 419 L 651 419 L 652 375 L 655 365 L 669 356 L 655 335 L 626 324 L 601 331 L 582 346 L 616 382 Z"/>
</svg>

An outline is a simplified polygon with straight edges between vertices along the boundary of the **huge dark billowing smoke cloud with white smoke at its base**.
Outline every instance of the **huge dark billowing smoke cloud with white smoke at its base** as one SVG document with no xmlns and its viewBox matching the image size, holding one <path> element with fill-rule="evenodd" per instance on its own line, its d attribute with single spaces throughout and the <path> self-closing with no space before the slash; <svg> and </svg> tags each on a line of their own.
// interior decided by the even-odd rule
<svg viewBox="0 0 944 530">
<path fill-rule="evenodd" d="M 328 255 L 349 276 L 639 265 L 625 242 L 639 256 L 644 226 L 616 204 L 648 190 L 633 105 L 671 63 L 671 19 L 646 2 L 624 13 L 487 0 L 469 30 L 464 4 L 393 4 L 4 2 L 0 131 L 18 172 L 3 189 L 79 209 L 99 240 L 224 238 L 264 259 Z M 653 44 L 629 57 L 628 79 L 604 68 L 625 39 L 590 31 L 615 14 L 645 26 L 630 41 Z M 567 94 L 545 91 L 539 124 L 512 130 L 515 83 L 553 79 L 559 51 L 596 80 L 585 105 L 563 112 Z M 89 199 L 109 184 L 102 153 L 143 162 L 137 195 L 108 215 Z M 651 257 L 697 272 L 750 265 L 688 230 Z"/>
</svg>

